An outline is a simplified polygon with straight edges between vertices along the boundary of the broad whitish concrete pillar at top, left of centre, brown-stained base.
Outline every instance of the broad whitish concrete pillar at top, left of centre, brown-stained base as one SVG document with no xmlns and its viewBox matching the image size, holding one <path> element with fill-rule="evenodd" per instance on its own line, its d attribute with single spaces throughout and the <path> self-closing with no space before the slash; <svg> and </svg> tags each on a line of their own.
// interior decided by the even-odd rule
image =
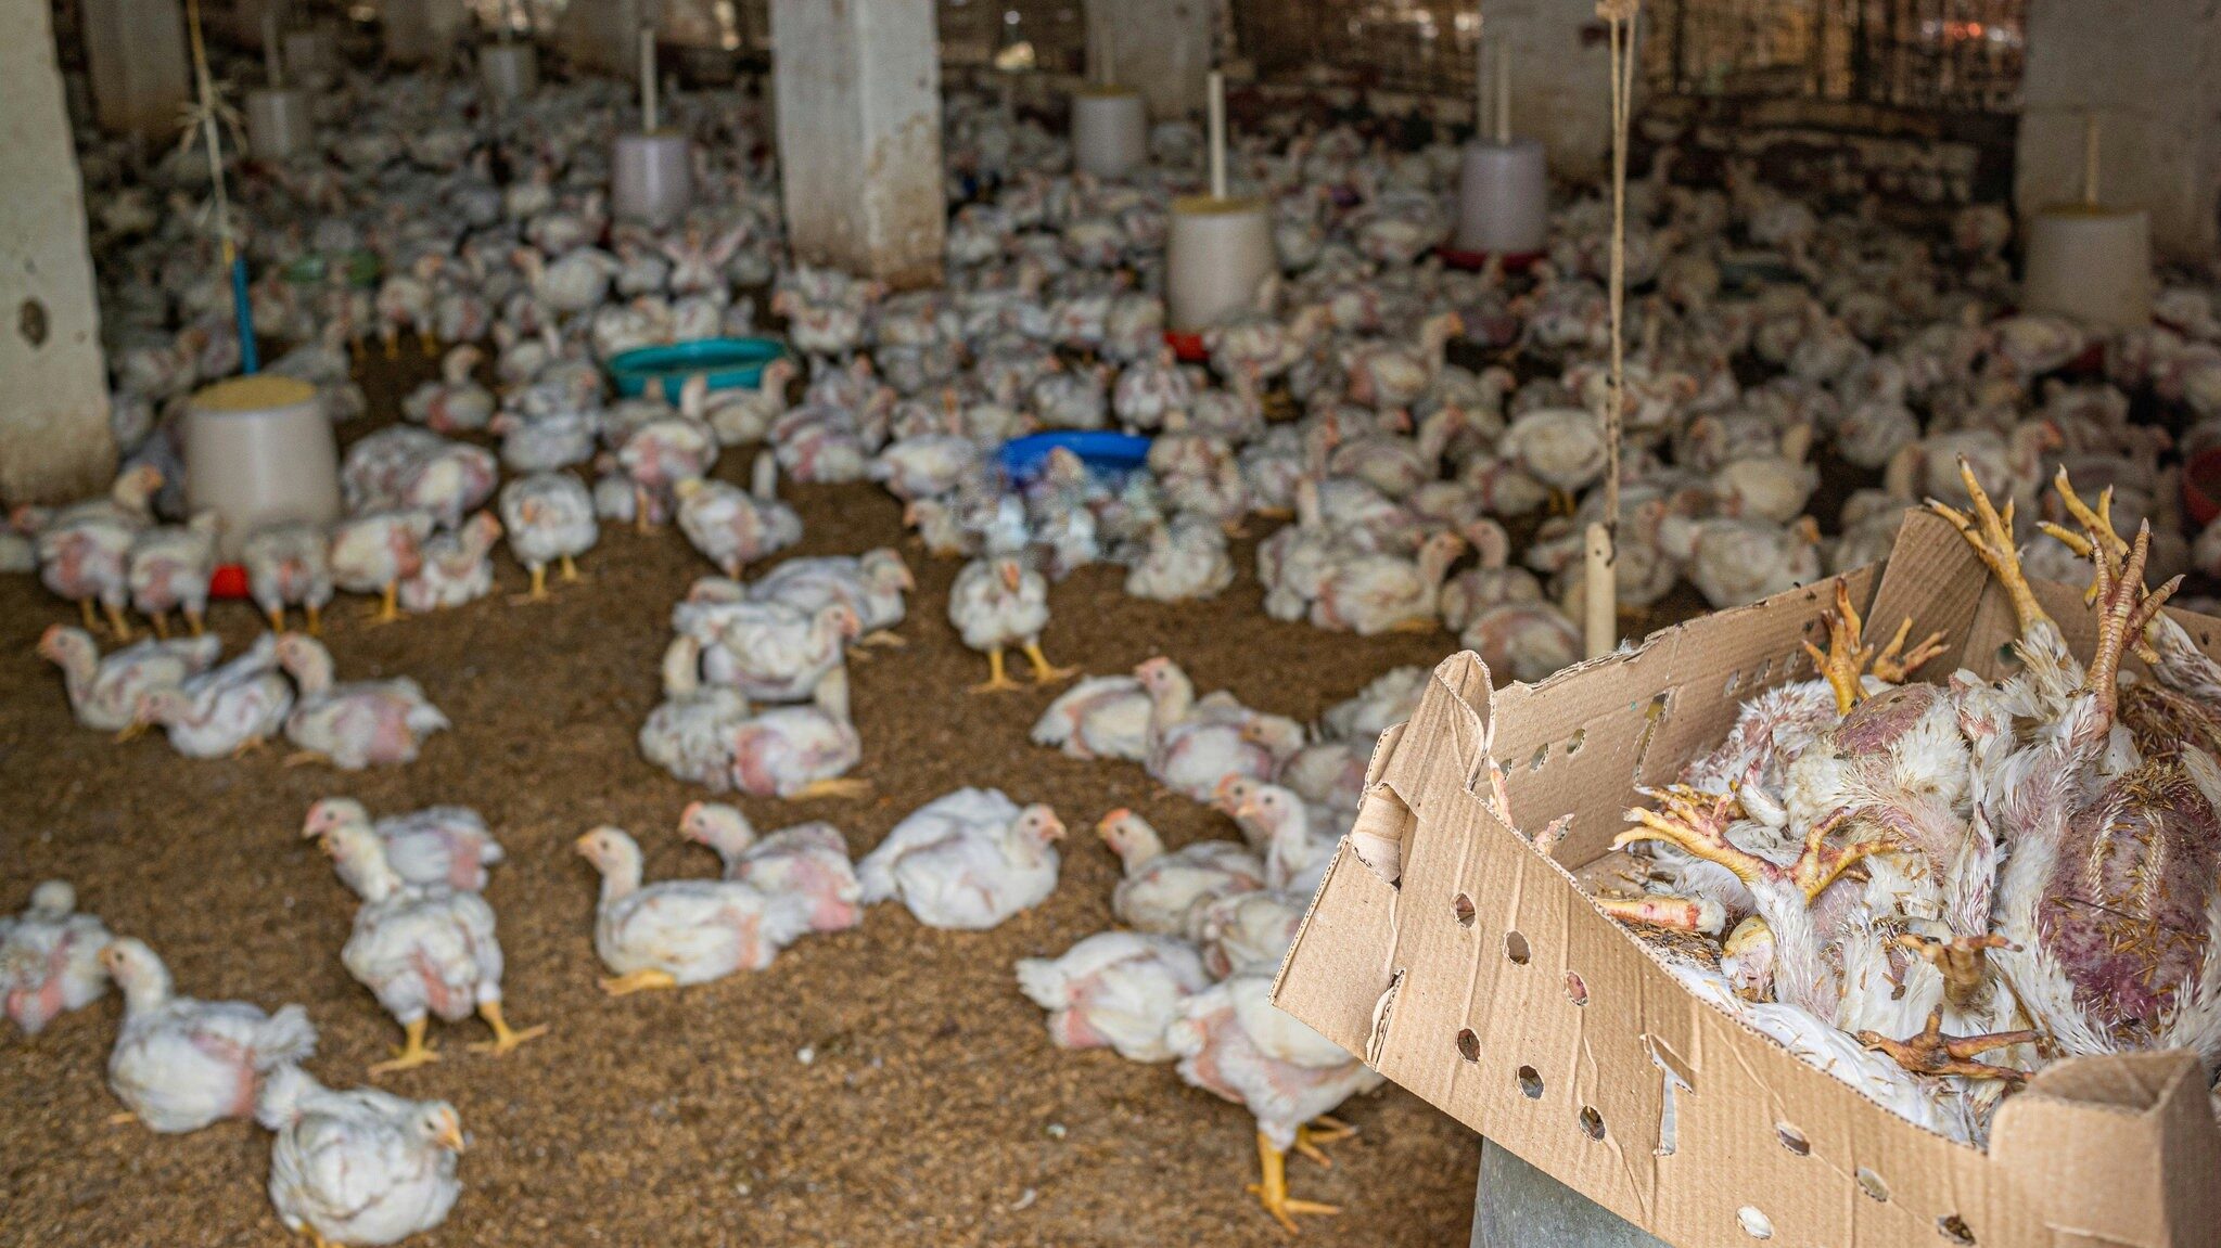
<svg viewBox="0 0 2221 1248">
<path fill-rule="evenodd" d="M 795 258 L 891 286 L 939 282 L 933 0 L 773 0 L 771 42 Z"/>
</svg>

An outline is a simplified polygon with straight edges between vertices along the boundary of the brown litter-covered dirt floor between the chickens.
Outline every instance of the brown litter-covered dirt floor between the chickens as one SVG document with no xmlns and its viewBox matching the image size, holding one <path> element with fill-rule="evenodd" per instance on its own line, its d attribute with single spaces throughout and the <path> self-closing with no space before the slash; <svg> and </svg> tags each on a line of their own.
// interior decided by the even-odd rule
<svg viewBox="0 0 2221 1248">
<path fill-rule="evenodd" d="M 418 360 L 406 373 L 429 373 Z M 384 397 L 382 397 L 384 395 Z M 373 411 L 391 411 L 391 386 Z M 346 429 L 360 435 L 369 422 Z M 726 455 L 740 477 L 746 455 Z M 806 522 L 795 555 L 902 537 L 875 486 L 788 489 Z M 67 877 L 111 930 L 169 962 L 182 993 L 300 1002 L 322 1030 L 309 1064 L 351 1086 L 398 1026 L 340 966 L 353 897 L 300 839 L 306 806 L 360 797 L 373 813 L 462 802 L 493 824 L 509 862 L 486 890 L 509 957 L 509 1015 L 553 1033 L 509 1057 L 469 1053 L 480 1024 L 435 1028 L 435 1066 L 389 1075 L 444 1097 L 471 1135 L 464 1195 L 422 1244 L 1279 1244 L 1244 1197 L 1250 1117 L 1186 1088 L 1170 1066 L 1048 1044 L 1011 964 L 1055 955 L 1110 924 L 1117 862 L 1091 835 L 1133 806 L 1166 839 L 1235 835 L 1219 815 L 1159 793 L 1130 764 L 1082 764 L 1026 742 L 1055 691 L 975 697 L 986 675 L 948 626 L 957 564 L 906 546 L 919 593 L 911 646 L 855 664 L 864 802 L 746 802 L 771 831 L 833 819 L 864 853 L 908 811 L 964 784 L 1051 802 L 1073 826 L 1048 904 L 993 933 L 922 928 L 877 906 L 862 928 L 806 937 L 760 975 L 622 1002 L 595 988 L 593 870 L 571 842 L 600 822 L 640 837 L 649 877 L 713 875 L 675 833 L 700 793 L 640 759 L 633 733 L 657 700 L 669 608 L 711 568 L 675 531 L 604 531 L 589 580 L 553 604 L 513 606 L 524 573 L 506 551 L 495 597 L 395 626 L 331 613 L 340 677 L 413 675 L 455 722 L 406 768 L 282 768 L 282 748 L 189 762 L 160 737 L 118 746 L 69 717 L 60 675 L 31 651 L 76 611 L 31 577 L 0 582 L 0 906 Z M 1202 688 L 1310 717 L 1395 664 L 1435 662 L 1446 633 L 1355 640 L 1259 611 L 1253 546 L 1215 602 L 1128 600 L 1119 568 L 1055 586 L 1044 637 L 1059 664 L 1128 671 L 1173 655 Z M 244 604 L 213 624 L 238 646 Z M 282 1244 L 262 1184 L 269 1137 L 227 1121 L 184 1137 L 111 1126 L 102 1081 L 120 1004 L 67 1015 L 33 1044 L 0 1041 L 0 1244 Z M 1335 1168 L 1290 1164 L 1297 1195 L 1337 1201 L 1313 1244 L 1461 1244 L 1475 1137 L 1384 1088 L 1341 1115 L 1361 1133 Z"/>
</svg>

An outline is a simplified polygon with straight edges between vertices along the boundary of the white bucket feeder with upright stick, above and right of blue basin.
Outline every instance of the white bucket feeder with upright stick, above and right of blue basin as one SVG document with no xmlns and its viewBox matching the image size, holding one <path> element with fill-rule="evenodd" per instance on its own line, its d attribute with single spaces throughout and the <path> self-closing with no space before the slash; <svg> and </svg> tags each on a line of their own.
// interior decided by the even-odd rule
<svg viewBox="0 0 2221 1248">
<path fill-rule="evenodd" d="M 1226 78 L 1210 71 L 1210 193 L 1173 200 L 1166 320 L 1175 331 L 1199 331 L 1248 311 L 1277 269 L 1266 202 L 1226 193 Z"/>
</svg>

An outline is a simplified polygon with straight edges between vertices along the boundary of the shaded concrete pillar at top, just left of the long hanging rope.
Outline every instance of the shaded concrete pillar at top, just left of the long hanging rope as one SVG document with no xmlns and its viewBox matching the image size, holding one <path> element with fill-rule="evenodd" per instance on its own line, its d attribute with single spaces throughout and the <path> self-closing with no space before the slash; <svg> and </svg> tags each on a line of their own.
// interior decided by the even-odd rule
<svg viewBox="0 0 2221 1248">
<path fill-rule="evenodd" d="M 1513 133 L 1537 138 L 1550 169 L 1568 178 L 1601 178 L 1612 162 L 1612 51 L 1590 4 L 1566 0 L 1490 0 L 1490 40 L 1510 40 Z M 1650 9 L 1644 40 L 1659 38 Z"/>
</svg>

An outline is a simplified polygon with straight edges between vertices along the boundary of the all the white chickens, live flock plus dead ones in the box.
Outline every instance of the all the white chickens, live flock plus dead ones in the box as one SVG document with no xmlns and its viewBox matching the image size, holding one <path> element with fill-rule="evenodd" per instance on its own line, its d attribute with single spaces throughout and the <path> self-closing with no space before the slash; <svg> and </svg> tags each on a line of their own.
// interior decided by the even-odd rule
<svg viewBox="0 0 2221 1248">
<path fill-rule="evenodd" d="M 715 799 L 871 791 L 848 664 L 900 662 L 913 571 L 893 548 L 780 560 L 802 540 L 780 491 L 880 482 L 928 555 L 964 560 L 948 617 L 984 655 L 982 693 L 1073 682 L 1033 726 L 1042 748 L 1139 766 L 1239 828 L 1168 848 L 1133 811 L 1104 813 L 1119 926 L 1019 962 L 1017 988 L 1053 1044 L 1175 1064 L 1244 1104 L 1253 1190 L 1284 1226 L 1333 1212 L 1290 1197 L 1286 1155 L 1321 1159 L 1348 1130 L 1330 1113 L 1379 1077 L 1279 1015 L 1270 975 L 1350 824 L 1375 735 L 1410 713 L 1426 673 L 1384 673 L 1319 724 L 1199 693 L 1173 657 L 1082 675 L 1046 653 L 1053 586 L 1106 562 L 1135 597 L 1219 595 L 1237 580 L 1233 542 L 1264 524 L 1255 577 L 1277 620 L 1441 628 L 1517 680 L 1575 662 L 1579 533 L 1606 520 L 1608 198 L 1572 189 L 1532 264 L 1459 271 L 1433 258 L 1453 218 L 1446 133 L 1404 149 L 1304 109 L 1259 113 L 1228 155 L 1235 184 L 1273 202 L 1282 273 L 1182 360 L 1159 291 L 1170 202 L 1199 178 L 1188 122 L 1155 127 L 1150 164 L 1104 182 L 1068 173 L 1068 144 L 1008 98 L 953 89 L 948 278 L 893 293 L 788 262 L 762 111 L 737 91 L 671 98 L 700 193 L 655 231 L 609 215 L 609 138 L 637 120 L 617 84 L 557 80 L 509 109 L 431 71 L 342 67 L 318 87 L 313 151 L 231 171 L 255 324 L 289 344 L 269 369 L 313 384 L 340 424 L 366 415 L 353 364 L 369 351 L 444 351 L 440 375 L 400 422 L 346 437 L 342 520 L 238 535 L 269 631 L 224 660 L 204 631 L 222 533 L 184 513 L 180 489 L 182 404 L 240 364 L 231 289 L 193 213 L 207 167 L 84 135 L 124 466 L 102 497 L 16 509 L 0 537 L 0 564 L 78 604 L 78 624 L 40 640 L 76 717 L 118 737 L 162 728 L 187 757 L 284 737 L 289 762 L 402 766 L 451 724 L 413 680 L 338 680 L 320 640 L 338 593 L 371 600 L 373 622 L 462 606 L 493 593 L 502 546 L 526 600 L 593 593 L 580 562 L 604 526 L 675 526 L 708 568 L 671 606 L 662 702 L 637 748 L 706 793 L 677 831 L 724 868 L 649 882 L 626 831 L 577 837 L 600 875 L 604 990 L 757 970 L 882 902 L 993 928 L 1057 888 L 1057 811 L 959 788 L 851 862 L 833 824 L 760 835 Z M 2094 562 L 2108 633 L 2081 662 L 2041 611 L 2023 613 L 2014 682 L 1897 684 L 1923 655 L 1870 662 L 1843 604 L 1828 680 L 1748 706 L 1721 751 L 1635 815 L 1624 839 L 1648 862 L 1597 875 L 1599 897 L 1690 937 L 1672 948 L 1692 990 L 1961 1139 L 1981 1139 L 1999 1093 L 2052 1048 L 2190 1044 L 2221 1061 L 2205 1024 L 2221 959 L 2185 919 L 2205 915 L 2194 888 L 2210 890 L 2221 853 L 2221 686 L 2141 597 L 2145 575 L 2221 575 L 2221 529 L 2192 531 L 2179 491 L 2181 464 L 2221 446 L 2214 291 L 2170 282 L 2159 324 L 2094 335 L 2006 311 L 1999 209 L 1968 209 L 1932 240 L 1872 202 L 1821 211 L 1748 167 L 1706 187 L 1670 169 L 1661 151 L 1628 189 L 1619 606 L 1641 613 L 1686 584 L 1723 608 L 1861 566 L 1932 497 L 1963 509 L 2008 586 L 2023 568 L 2088 577 Z M 358 284 L 360 258 L 382 275 Z M 760 386 L 611 393 L 611 355 L 755 333 L 764 313 L 793 353 Z M 2132 420 L 2148 402 L 2183 433 Z M 1091 429 L 1148 435 L 1146 464 L 1104 473 L 1064 449 L 1022 475 L 1002 464 L 1011 437 Z M 726 449 L 746 455 L 744 486 L 715 475 Z M 1815 517 L 1823 460 L 1868 484 Z M 2061 469 L 2103 486 L 2106 506 L 2048 493 Z M 2039 517 L 2059 526 L 2037 531 Z M 2145 631 L 2157 682 L 2117 688 Z M 1866 757 L 1846 739 L 1866 739 Z M 1875 791 L 1868 766 L 1926 768 L 1934 786 Z M 1861 819 L 1890 833 L 1828 844 Z M 1943 824 L 1970 828 L 1966 844 L 1921 839 Z M 360 899 L 335 953 L 402 1033 L 369 1075 L 440 1061 L 435 1017 L 478 1017 L 493 1055 L 544 1033 L 504 1015 L 482 897 L 504 853 L 482 817 L 373 817 L 335 795 L 302 831 Z M 2110 866 L 2103 886 L 2154 888 L 2172 944 L 2097 955 L 2048 899 L 2072 853 L 2112 835 L 2165 859 L 2161 882 Z M 1855 859 L 1866 870 L 1846 875 Z M 2190 864 L 2205 864 L 2199 884 Z M 2137 970 L 2143 986 L 2123 986 Z M 111 937 L 62 882 L 0 926 L 0 988 L 24 1033 L 107 984 L 124 995 L 118 1099 L 155 1130 L 267 1126 L 289 1228 L 389 1244 L 455 1204 L 455 1110 L 322 1086 L 300 1066 L 315 1048 L 300 1006 L 178 995 L 149 944 Z"/>
</svg>

